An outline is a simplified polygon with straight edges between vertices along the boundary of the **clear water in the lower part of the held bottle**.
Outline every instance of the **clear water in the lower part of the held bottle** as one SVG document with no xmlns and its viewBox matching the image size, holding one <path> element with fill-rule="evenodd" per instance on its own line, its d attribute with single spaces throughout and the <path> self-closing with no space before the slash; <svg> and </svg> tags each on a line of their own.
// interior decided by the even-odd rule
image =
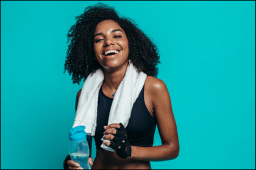
<svg viewBox="0 0 256 170">
<path fill-rule="evenodd" d="M 80 167 L 84 169 L 91 169 L 88 163 L 89 154 L 85 153 L 73 153 L 70 154 L 71 160 L 78 163 Z"/>
</svg>

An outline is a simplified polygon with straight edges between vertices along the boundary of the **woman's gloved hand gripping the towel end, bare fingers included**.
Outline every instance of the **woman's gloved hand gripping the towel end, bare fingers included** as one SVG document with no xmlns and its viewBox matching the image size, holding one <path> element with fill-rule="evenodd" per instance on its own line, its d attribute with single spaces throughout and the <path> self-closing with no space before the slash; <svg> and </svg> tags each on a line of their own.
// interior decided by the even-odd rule
<svg viewBox="0 0 256 170">
<path fill-rule="evenodd" d="M 114 128 L 114 129 L 113 129 Z M 122 123 L 113 123 L 108 126 L 104 126 L 104 140 L 112 141 L 103 143 L 112 149 L 116 150 L 116 155 L 121 158 L 127 158 L 131 156 L 132 148 L 128 142 L 128 136 L 126 128 Z"/>
</svg>

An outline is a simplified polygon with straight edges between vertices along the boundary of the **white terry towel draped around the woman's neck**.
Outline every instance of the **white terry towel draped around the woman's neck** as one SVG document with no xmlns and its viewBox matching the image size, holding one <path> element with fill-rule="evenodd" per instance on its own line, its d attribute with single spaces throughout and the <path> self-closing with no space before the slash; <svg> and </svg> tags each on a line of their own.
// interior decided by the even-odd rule
<svg viewBox="0 0 256 170">
<path fill-rule="evenodd" d="M 144 72 L 138 73 L 129 60 L 126 75 L 119 84 L 113 98 L 107 125 L 122 123 L 124 127 L 127 126 L 133 104 L 144 86 L 146 77 L 147 75 Z M 87 135 L 94 136 L 95 134 L 99 89 L 103 81 L 104 73 L 101 69 L 98 69 L 93 75 L 90 74 L 85 80 L 79 97 L 73 127 L 84 125 Z M 101 148 L 113 152 L 113 149 L 104 143 L 101 144 Z"/>
</svg>

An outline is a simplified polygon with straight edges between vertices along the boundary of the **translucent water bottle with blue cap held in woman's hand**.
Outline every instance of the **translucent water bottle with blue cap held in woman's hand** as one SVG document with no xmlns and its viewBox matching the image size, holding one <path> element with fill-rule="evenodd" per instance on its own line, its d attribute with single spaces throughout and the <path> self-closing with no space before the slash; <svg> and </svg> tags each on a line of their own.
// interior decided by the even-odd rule
<svg viewBox="0 0 256 170">
<path fill-rule="evenodd" d="M 90 149 L 86 140 L 85 126 L 76 126 L 69 131 L 69 155 L 72 161 L 79 163 L 84 169 L 91 169 L 89 165 Z"/>
</svg>

